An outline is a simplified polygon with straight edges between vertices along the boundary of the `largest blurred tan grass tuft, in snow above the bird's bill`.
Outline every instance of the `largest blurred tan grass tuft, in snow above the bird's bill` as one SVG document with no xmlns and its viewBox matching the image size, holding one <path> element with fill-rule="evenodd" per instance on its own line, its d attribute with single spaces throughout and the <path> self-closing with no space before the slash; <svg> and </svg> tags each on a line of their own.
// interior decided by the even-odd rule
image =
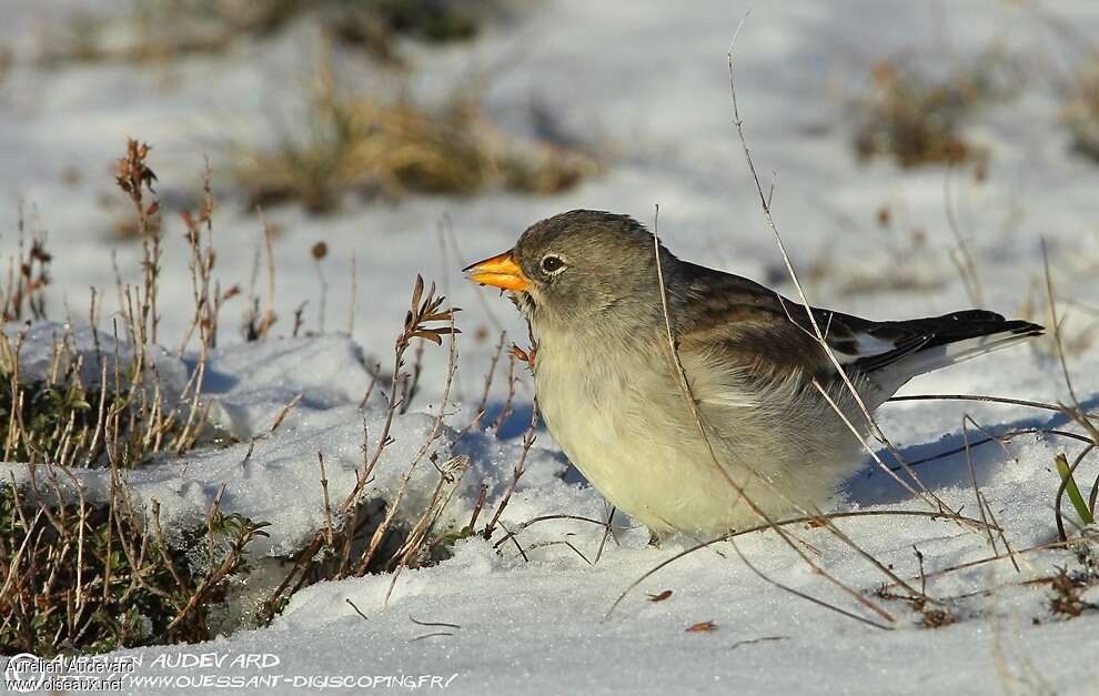
<svg viewBox="0 0 1099 696">
<path fill-rule="evenodd" d="M 551 194 L 599 169 L 591 154 L 503 133 L 466 98 L 427 108 L 409 98 L 345 97 L 331 71 L 320 75 L 301 130 L 304 137 L 285 134 L 273 150 L 240 158 L 236 180 L 251 204 L 298 200 L 327 212 L 349 193 L 390 200 L 490 188 Z"/>
</svg>

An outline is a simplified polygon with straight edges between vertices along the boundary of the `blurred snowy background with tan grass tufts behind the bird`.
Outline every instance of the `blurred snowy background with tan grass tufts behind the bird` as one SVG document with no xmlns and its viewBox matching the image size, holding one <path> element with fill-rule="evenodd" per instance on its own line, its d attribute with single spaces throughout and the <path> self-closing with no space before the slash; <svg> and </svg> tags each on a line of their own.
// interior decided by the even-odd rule
<svg viewBox="0 0 1099 696">
<path fill-rule="evenodd" d="M 1067 349 L 1092 346 L 1089 0 L 0 0 L 0 249 L 43 240 L 51 316 L 84 321 L 94 288 L 109 321 L 142 273 L 114 181 L 138 139 L 162 343 L 193 314 L 181 215 L 209 188 L 220 342 L 273 286 L 271 334 L 350 332 L 383 360 L 421 273 L 464 310 L 457 394 L 476 399 L 501 332 L 526 331 L 460 270 L 544 216 L 652 224 L 659 204 L 680 256 L 793 292 L 732 121 L 749 9 L 742 115 L 810 301 L 1041 321 L 1045 239 Z"/>
</svg>

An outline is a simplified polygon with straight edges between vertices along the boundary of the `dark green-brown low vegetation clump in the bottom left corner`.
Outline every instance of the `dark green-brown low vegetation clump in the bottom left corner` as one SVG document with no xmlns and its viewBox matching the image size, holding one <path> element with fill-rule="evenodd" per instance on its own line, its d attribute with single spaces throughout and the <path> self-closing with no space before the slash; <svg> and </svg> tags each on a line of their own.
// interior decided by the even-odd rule
<svg viewBox="0 0 1099 696">
<path fill-rule="evenodd" d="M 205 525 L 173 544 L 157 503 L 147 517 L 121 478 L 107 503 L 71 491 L 56 477 L 0 487 L 0 652 L 52 657 L 212 637 L 212 612 L 248 573 L 245 549 L 265 524 L 215 503 Z"/>
</svg>

